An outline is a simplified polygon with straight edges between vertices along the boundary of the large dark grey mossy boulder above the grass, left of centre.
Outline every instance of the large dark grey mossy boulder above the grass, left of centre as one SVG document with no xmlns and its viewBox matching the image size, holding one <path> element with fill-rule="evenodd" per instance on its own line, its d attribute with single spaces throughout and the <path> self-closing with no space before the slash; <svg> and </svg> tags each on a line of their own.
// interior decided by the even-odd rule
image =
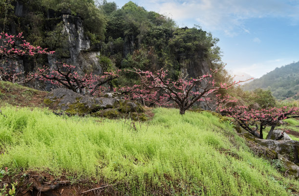
<svg viewBox="0 0 299 196">
<path fill-rule="evenodd" d="M 118 105 L 118 101 L 114 98 L 90 97 L 66 88 L 56 88 L 49 92 L 44 99 L 44 103 L 51 109 L 59 109 L 69 114 L 78 115 L 113 108 L 113 106 Z"/>
</svg>

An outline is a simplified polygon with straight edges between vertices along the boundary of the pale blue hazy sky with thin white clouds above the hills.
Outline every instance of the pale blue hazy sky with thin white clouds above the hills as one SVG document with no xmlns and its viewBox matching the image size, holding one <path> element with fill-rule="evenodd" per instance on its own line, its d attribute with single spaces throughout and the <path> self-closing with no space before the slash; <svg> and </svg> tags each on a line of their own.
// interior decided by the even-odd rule
<svg viewBox="0 0 299 196">
<path fill-rule="evenodd" d="M 121 8 L 128 0 L 115 1 Z M 171 17 L 180 27 L 200 25 L 219 38 L 222 61 L 254 77 L 299 61 L 299 0 L 132 0 Z"/>
</svg>

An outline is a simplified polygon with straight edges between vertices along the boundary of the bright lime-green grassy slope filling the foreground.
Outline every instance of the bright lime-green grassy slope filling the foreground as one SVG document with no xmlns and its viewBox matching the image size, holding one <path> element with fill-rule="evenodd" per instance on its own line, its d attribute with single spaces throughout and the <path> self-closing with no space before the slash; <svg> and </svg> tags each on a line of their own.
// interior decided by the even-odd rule
<svg viewBox="0 0 299 196">
<path fill-rule="evenodd" d="M 299 182 L 256 158 L 211 113 L 155 109 L 134 131 L 124 120 L 59 117 L 2 107 L 0 167 L 95 178 L 130 195 L 288 195 Z"/>
</svg>

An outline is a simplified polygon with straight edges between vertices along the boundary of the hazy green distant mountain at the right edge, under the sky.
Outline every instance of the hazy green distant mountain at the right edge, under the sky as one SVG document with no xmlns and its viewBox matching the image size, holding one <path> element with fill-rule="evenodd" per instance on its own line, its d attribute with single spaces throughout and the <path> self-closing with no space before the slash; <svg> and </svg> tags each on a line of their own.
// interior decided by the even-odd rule
<svg viewBox="0 0 299 196">
<path fill-rule="evenodd" d="M 299 62 L 284 65 L 242 86 L 244 90 L 270 89 L 273 96 L 283 100 L 299 100 Z"/>
</svg>

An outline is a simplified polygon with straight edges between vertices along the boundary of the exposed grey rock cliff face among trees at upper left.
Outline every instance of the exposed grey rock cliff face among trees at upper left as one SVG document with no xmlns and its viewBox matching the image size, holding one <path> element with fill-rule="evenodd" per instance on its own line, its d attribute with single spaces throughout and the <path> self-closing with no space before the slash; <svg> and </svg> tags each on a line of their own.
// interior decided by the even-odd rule
<svg viewBox="0 0 299 196">
<path fill-rule="evenodd" d="M 32 20 L 33 11 L 37 11 L 36 7 L 30 7 L 27 3 L 21 0 L 17 0 L 14 3 L 14 14 L 16 16 L 15 21 L 10 22 L 5 27 L 5 31 L 14 35 L 20 30 L 25 31 L 26 37 L 30 36 L 30 25 Z M 48 32 L 55 29 L 56 25 L 60 22 L 63 23 L 63 33 L 67 36 L 67 41 L 64 44 L 64 50 L 67 51 L 66 55 L 47 55 L 39 59 L 41 65 L 47 65 L 52 67 L 55 62 L 64 62 L 70 65 L 75 65 L 80 72 L 88 72 L 90 70 L 95 74 L 102 73 L 102 67 L 99 63 L 97 56 L 100 55 L 100 50 L 97 47 L 91 46 L 89 38 L 84 33 L 83 19 L 79 15 L 71 14 L 68 9 L 61 11 L 54 11 L 51 9 L 39 8 L 44 19 L 41 19 L 42 25 L 40 26 L 41 32 Z M 34 15 L 36 16 L 36 15 Z M 18 27 L 19 25 L 19 27 Z M 20 26 L 21 25 L 21 26 Z M 50 48 L 51 49 L 51 48 Z M 54 48 L 55 49 L 55 48 Z M 19 59 L 13 60 L 16 63 L 17 69 L 20 71 L 34 71 L 35 63 L 27 57 L 20 57 Z M 35 84 L 35 87 L 40 84 Z M 50 90 L 51 86 L 45 86 L 46 90 Z"/>
</svg>

